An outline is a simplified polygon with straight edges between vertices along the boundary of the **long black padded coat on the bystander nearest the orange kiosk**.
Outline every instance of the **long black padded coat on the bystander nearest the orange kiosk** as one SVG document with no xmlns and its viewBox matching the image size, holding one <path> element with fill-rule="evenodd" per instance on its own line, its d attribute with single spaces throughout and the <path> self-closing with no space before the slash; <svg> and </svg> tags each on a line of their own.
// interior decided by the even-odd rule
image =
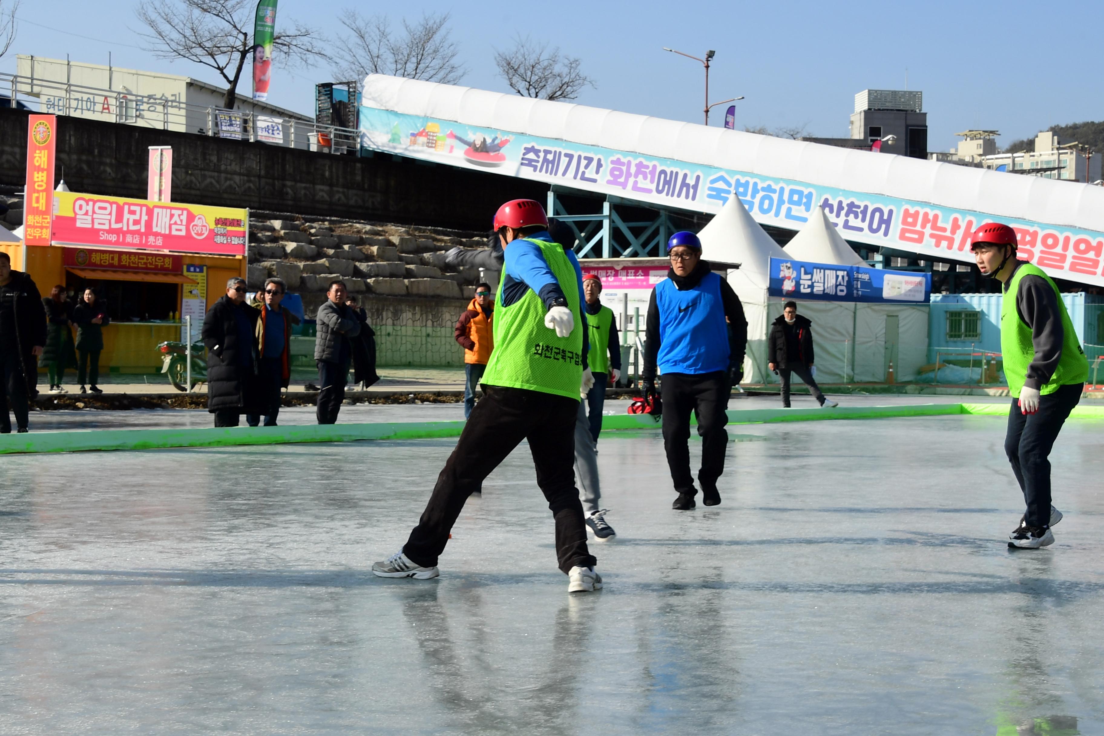
<svg viewBox="0 0 1104 736">
<path fill-rule="evenodd" d="M 245 311 L 250 319 L 250 342 L 243 345 L 237 332 L 234 309 Z M 252 335 L 256 331 L 261 312 L 246 303 L 235 306 L 230 297 L 222 297 L 203 318 L 203 344 L 208 349 L 208 412 L 241 409 L 243 414 L 263 414 L 263 402 L 256 377 L 257 350 Z M 245 367 L 240 360 L 242 351 L 251 354 Z"/>
</svg>

